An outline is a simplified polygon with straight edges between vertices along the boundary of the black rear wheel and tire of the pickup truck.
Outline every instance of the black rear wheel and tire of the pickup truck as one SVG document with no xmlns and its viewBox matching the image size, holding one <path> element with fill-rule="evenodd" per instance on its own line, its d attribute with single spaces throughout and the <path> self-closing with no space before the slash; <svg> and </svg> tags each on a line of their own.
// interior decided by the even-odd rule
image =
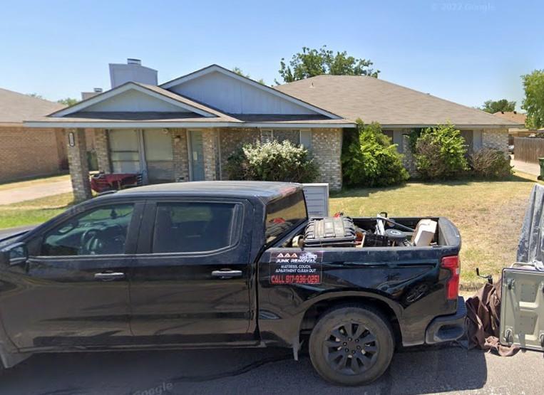
<svg viewBox="0 0 544 395">
<path fill-rule="evenodd" d="M 329 310 L 309 339 L 314 369 L 325 380 L 344 386 L 378 379 L 389 367 L 394 348 L 388 320 L 379 311 L 363 306 Z"/>
</svg>

